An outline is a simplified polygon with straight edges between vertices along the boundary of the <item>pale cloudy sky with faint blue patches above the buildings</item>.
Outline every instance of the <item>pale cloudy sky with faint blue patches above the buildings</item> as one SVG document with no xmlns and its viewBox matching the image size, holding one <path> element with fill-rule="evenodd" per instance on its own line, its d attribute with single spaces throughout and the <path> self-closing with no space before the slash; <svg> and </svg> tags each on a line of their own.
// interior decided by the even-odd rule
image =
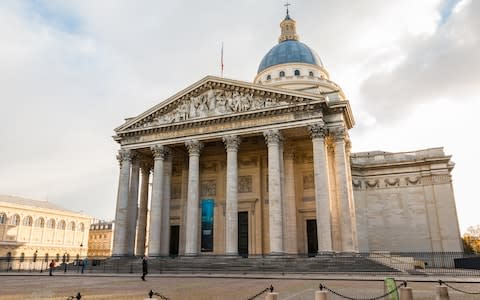
<svg viewBox="0 0 480 300">
<path fill-rule="evenodd" d="M 289 1 L 350 100 L 354 152 L 444 147 L 461 232 L 480 224 L 480 1 Z M 278 0 L 0 2 L 0 194 L 113 219 L 113 129 L 206 75 L 252 82 Z"/>
</svg>

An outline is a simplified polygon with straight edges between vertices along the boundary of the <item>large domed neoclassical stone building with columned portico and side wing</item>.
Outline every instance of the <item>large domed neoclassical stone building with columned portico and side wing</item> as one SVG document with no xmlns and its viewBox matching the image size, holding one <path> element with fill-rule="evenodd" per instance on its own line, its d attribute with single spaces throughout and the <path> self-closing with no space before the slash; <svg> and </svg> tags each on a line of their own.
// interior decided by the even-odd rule
<svg viewBox="0 0 480 300">
<path fill-rule="evenodd" d="M 113 255 L 461 251 L 450 157 L 351 153 L 344 92 L 280 28 L 253 83 L 207 76 L 115 129 Z"/>
</svg>

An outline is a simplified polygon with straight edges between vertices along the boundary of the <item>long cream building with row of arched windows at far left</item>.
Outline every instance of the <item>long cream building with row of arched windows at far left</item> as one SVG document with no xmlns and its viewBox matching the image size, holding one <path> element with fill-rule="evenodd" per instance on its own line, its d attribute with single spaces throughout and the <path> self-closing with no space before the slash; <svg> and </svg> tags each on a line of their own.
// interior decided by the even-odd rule
<svg viewBox="0 0 480 300">
<path fill-rule="evenodd" d="M 0 256 L 37 264 L 85 257 L 90 220 L 47 201 L 0 195 Z"/>
</svg>

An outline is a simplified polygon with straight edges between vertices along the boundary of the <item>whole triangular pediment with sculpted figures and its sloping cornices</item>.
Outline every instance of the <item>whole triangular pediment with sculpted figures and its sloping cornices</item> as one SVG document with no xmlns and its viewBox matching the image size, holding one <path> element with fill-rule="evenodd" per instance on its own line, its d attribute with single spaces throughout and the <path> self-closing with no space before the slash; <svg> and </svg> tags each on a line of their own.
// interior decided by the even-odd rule
<svg viewBox="0 0 480 300">
<path fill-rule="evenodd" d="M 321 95 L 207 76 L 115 129 L 118 133 L 275 110 Z"/>
</svg>

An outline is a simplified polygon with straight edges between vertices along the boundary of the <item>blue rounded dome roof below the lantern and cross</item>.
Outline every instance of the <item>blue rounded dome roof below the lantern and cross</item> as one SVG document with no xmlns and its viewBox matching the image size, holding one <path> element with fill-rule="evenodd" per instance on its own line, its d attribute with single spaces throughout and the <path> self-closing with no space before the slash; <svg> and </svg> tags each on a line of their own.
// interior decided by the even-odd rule
<svg viewBox="0 0 480 300">
<path fill-rule="evenodd" d="M 323 67 L 318 55 L 307 45 L 296 40 L 286 40 L 268 51 L 260 62 L 257 73 L 271 66 L 295 62 Z"/>
</svg>

